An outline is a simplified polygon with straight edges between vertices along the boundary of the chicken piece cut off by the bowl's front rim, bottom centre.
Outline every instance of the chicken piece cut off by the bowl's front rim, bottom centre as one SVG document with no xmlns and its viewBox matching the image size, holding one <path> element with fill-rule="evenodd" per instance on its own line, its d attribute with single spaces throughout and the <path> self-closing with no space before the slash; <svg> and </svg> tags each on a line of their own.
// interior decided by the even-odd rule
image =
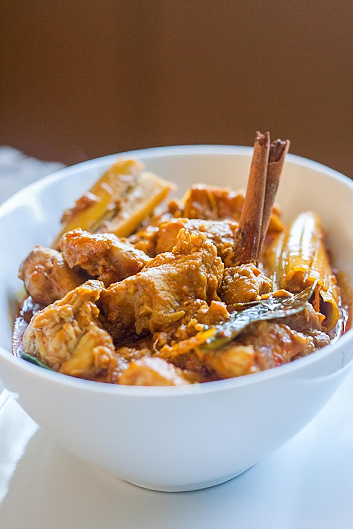
<svg viewBox="0 0 353 529">
<path fill-rule="evenodd" d="M 131 362 L 122 372 L 119 384 L 126 386 L 184 386 L 190 382 L 181 369 L 161 358 L 144 357 Z"/>
</svg>

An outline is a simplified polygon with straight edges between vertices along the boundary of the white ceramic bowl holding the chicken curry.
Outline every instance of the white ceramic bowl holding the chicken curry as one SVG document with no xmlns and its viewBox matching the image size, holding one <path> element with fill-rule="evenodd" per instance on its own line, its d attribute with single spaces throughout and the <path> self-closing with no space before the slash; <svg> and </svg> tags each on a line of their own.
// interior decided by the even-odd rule
<svg viewBox="0 0 353 529">
<path fill-rule="evenodd" d="M 245 187 L 252 149 L 216 145 L 129 153 L 175 181 Z M 291 439 L 320 411 L 352 364 L 353 330 L 291 364 L 186 387 L 112 386 L 71 378 L 12 356 L 8 306 L 21 288 L 21 259 L 49 245 L 62 211 L 117 158 L 62 169 L 0 206 L 0 377 L 25 411 L 68 450 L 117 478 L 157 490 L 226 481 Z M 353 277 L 353 183 L 318 163 L 287 156 L 278 201 L 284 218 L 313 209 L 336 265 Z"/>
</svg>

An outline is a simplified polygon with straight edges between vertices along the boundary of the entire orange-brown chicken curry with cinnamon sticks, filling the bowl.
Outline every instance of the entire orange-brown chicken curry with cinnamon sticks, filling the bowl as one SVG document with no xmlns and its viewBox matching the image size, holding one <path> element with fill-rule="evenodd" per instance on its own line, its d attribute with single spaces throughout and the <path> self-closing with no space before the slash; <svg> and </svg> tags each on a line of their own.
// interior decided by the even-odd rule
<svg viewBox="0 0 353 529">
<path fill-rule="evenodd" d="M 20 266 L 28 296 L 13 353 L 111 384 L 248 375 L 337 340 L 346 300 L 320 218 L 284 225 L 275 196 L 289 141 L 256 133 L 246 193 L 174 184 L 119 159 Z"/>
</svg>

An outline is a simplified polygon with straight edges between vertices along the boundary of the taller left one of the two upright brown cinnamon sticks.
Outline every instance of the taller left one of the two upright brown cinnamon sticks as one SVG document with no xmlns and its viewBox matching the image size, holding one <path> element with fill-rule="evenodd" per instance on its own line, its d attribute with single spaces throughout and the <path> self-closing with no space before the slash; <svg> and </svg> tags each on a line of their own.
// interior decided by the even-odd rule
<svg viewBox="0 0 353 529">
<path fill-rule="evenodd" d="M 269 156 L 269 132 L 256 132 L 250 175 L 234 246 L 237 264 L 258 261 Z"/>
</svg>

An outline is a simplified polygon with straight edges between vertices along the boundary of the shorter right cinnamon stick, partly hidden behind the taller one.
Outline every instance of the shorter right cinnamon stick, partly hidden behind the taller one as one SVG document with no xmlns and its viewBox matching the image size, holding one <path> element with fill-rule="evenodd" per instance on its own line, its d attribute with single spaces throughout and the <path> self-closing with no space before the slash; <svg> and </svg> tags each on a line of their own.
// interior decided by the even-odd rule
<svg viewBox="0 0 353 529">
<path fill-rule="evenodd" d="M 275 140 L 270 144 L 268 154 L 268 166 L 267 166 L 267 177 L 266 177 L 266 189 L 264 199 L 264 211 L 263 219 L 261 222 L 261 235 L 258 248 L 258 254 L 260 256 L 263 248 L 265 236 L 268 230 L 270 217 L 275 203 L 277 194 L 280 174 L 282 172 L 284 158 L 291 147 L 289 140 Z"/>
</svg>

